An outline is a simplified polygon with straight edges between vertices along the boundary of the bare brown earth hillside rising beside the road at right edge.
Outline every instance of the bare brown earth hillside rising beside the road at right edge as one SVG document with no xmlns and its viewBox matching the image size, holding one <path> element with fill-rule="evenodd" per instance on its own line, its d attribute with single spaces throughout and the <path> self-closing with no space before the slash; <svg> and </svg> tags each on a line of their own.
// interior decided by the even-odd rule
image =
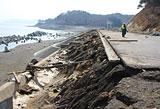
<svg viewBox="0 0 160 109">
<path fill-rule="evenodd" d="M 133 32 L 160 32 L 160 5 L 146 5 L 127 24 L 128 30 Z"/>
</svg>

